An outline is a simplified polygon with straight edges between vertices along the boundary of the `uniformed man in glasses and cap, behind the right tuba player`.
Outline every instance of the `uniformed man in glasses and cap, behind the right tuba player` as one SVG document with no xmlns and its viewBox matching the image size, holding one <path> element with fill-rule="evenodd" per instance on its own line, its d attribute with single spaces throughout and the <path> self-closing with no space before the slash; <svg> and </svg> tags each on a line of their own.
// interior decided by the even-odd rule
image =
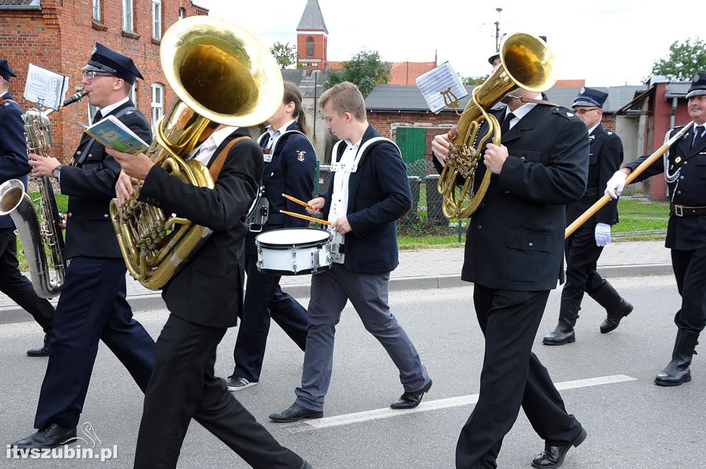
<svg viewBox="0 0 706 469">
<path fill-rule="evenodd" d="M 575 114 L 586 124 L 590 139 L 588 153 L 588 186 L 579 201 L 566 206 L 567 225 L 576 220 L 599 198 L 608 179 L 623 162 L 623 142 L 601 124 L 603 105 L 608 93 L 595 88 L 581 88 L 573 103 Z M 566 239 L 566 283 L 561 290 L 559 321 L 542 338 L 544 345 L 575 342 L 574 326 L 584 293 L 606 309 L 606 319 L 599 326 L 602 333 L 613 331 L 623 317 L 633 311 L 613 285 L 596 271 L 603 247 L 611 242 L 611 225 L 618 222 L 618 203 L 611 201 Z"/>
</svg>

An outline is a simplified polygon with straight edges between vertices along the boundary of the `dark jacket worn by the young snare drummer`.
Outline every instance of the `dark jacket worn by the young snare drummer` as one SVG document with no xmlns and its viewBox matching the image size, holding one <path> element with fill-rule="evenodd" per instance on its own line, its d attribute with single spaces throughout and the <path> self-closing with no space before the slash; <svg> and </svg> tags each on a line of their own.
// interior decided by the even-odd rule
<svg viewBox="0 0 706 469">
<path fill-rule="evenodd" d="M 369 125 L 361 146 L 373 137 L 381 136 Z M 345 152 L 344 143 L 335 160 Z M 333 177 L 333 174 L 332 174 Z M 333 196 L 332 184 L 323 208 L 328 218 Z M 378 143 L 369 148 L 358 162 L 358 170 L 348 180 L 348 210 L 346 218 L 352 232 L 345 235 L 344 265 L 355 273 L 388 273 L 399 264 L 395 220 L 412 207 L 407 167 L 392 143 Z"/>
</svg>

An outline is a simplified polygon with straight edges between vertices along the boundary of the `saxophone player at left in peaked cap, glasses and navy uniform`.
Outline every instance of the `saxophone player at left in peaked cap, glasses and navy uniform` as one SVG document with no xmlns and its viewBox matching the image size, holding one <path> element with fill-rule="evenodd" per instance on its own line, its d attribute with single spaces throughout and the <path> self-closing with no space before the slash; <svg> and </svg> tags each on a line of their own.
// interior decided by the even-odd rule
<svg viewBox="0 0 706 469">
<path fill-rule="evenodd" d="M 136 78 L 133 60 L 95 44 L 81 81 L 94 121 L 113 115 L 144 141 L 152 140 L 147 119 L 128 98 Z M 32 176 L 54 177 L 68 198 L 66 249 L 70 259 L 54 320 L 52 354 L 35 415 L 37 432 L 11 446 L 44 449 L 76 437 L 76 425 L 98 350 L 112 350 L 145 390 L 154 364 L 154 340 L 135 321 L 126 301 L 126 267 L 109 215 L 120 165 L 102 144 L 84 133 L 71 165 L 29 155 Z"/>
</svg>

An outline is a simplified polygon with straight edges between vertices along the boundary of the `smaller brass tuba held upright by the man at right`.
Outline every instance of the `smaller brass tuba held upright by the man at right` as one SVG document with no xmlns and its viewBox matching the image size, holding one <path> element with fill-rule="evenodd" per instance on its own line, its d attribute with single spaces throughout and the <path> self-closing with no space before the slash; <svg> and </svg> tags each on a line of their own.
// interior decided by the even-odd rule
<svg viewBox="0 0 706 469">
<path fill-rule="evenodd" d="M 467 218 L 477 210 L 490 184 L 491 172 L 486 171 L 478 187 L 474 179 L 485 143 L 493 138 L 500 145 L 498 119 L 487 111 L 503 96 L 517 88 L 540 91 L 549 90 L 554 77 L 554 53 L 546 42 L 537 36 L 515 32 L 508 35 L 500 46 L 501 65 L 482 85 L 473 88 L 471 100 L 457 124 L 457 133 L 446 165 L 441 172 L 438 191 L 443 196 L 443 214 L 446 218 Z M 487 121 L 487 130 L 479 136 L 479 129 Z M 460 185 L 458 178 L 464 178 Z"/>
</svg>

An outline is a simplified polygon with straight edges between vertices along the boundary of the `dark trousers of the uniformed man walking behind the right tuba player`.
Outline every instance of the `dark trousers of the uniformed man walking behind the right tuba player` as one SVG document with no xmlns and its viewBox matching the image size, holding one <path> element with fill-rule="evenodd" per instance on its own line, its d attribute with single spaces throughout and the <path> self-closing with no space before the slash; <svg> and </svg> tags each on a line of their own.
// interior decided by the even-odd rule
<svg viewBox="0 0 706 469">
<path fill-rule="evenodd" d="M 595 225 L 583 225 L 564 242 L 566 283 L 561 290 L 563 298 L 583 299 L 584 292 L 590 295 L 606 283 L 596 271 L 603 247 L 596 246 L 595 228 Z"/>
</svg>

